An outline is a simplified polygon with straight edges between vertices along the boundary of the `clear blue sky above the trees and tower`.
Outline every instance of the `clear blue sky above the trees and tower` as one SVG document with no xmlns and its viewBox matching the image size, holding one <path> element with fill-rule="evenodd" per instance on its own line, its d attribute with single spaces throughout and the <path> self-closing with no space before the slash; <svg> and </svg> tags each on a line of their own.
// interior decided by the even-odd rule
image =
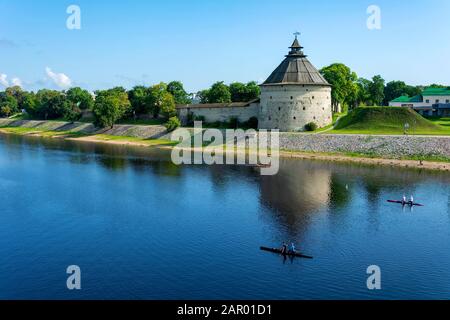
<svg viewBox="0 0 450 320">
<path fill-rule="evenodd" d="M 81 30 L 66 28 L 71 4 Z M 366 27 L 372 4 L 381 30 Z M 297 30 L 317 68 L 343 62 L 361 77 L 450 85 L 448 0 L 0 0 L 0 75 L 30 90 L 63 75 L 89 90 L 261 82 Z"/>
</svg>

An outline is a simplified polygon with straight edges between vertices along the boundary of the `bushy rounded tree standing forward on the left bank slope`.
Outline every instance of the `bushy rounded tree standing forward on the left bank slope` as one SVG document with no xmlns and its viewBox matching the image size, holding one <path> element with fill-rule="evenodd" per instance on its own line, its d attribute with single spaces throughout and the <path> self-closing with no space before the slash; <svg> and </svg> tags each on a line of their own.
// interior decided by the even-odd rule
<svg viewBox="0 0 450 320">
<path fill-rule="evenodd" d="M 114 127 L 131 108 L 128 94 L 123 88 L 97 91 L 93 107 L 95 124 L 99 127 Z"/>
</svg>

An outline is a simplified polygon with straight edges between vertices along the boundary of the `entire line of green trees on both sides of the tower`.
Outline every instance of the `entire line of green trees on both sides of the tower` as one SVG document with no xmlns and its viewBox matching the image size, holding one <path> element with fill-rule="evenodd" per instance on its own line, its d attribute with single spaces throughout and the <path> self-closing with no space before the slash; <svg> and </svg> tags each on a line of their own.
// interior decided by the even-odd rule
<svg viewBox="0 0 450 320">
<path fill-rule="evenodd" d="M 415 96 L 424 86 L 411 86 L 403 81 L 386 81 L 376 75 L 372 79 L 359 78 L 348 66 L 335 63 L 320 70 L 332 87 L 333 111 L 343 111 L 357 106 L 388 105 L 402 96 Z M 433 87 L 445 87 L 431 85 Z M 260 87 L 256 82 L 234 82 L 230 85 L 216 82 L 209 89 L 197 93 L 200 103 L 248 102 L 258 99 Z M 0 92 L 0 117 L 10 117 L 25 110 L 29 117 L 41 120 L 64 119 L 78 121 L 87 111 L 92 112 L 99 127 L 112 127 L 118 121 L 136 120 L 150 116 L 166 122 L 170 129 L 180 125 L 176 105 L 191 104 L 193 95 L 183 84 L 172 81 L 131 90 L 115 87 L 90 93 L 79 87 L 67 91 L 42 89 L 28 92 L 20 87 L 6 88 Z"/>
</svg>

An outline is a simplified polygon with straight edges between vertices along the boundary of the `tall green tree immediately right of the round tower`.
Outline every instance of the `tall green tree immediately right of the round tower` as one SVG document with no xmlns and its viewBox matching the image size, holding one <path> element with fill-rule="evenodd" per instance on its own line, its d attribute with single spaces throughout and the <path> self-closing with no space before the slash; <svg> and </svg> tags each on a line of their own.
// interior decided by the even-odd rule
<svg viewBox="0 0 450 320">
<path fill-rule="evenodd" d="M 333 86 L 331 104 L 333 112 L 339 112 L 339 105 L 348 106 L 356 101 L 358 76 L 342 63 L 335 63 L 320 70 L 324 78 Z"/>
</svg>

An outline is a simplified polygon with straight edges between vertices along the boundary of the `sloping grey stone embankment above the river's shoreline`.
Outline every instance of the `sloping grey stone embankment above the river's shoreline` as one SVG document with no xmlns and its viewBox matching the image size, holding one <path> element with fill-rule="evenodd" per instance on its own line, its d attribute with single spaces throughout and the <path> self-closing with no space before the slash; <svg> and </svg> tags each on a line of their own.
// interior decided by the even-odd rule
<svg viewBox="0 0 450 320">
<path fill-rule="evenodd" d="M 115 125 L 98 129 L 90 123 L 0 119 L 0 127 L 107 134 L 141 139 L 170 139 L 164 126 Z M 450 136 L 371 136 L 281 133 L 280 148 L 296 152 L 355 153 L 374 157 L 442 157 L 450 159 Z"/>
</svg>

